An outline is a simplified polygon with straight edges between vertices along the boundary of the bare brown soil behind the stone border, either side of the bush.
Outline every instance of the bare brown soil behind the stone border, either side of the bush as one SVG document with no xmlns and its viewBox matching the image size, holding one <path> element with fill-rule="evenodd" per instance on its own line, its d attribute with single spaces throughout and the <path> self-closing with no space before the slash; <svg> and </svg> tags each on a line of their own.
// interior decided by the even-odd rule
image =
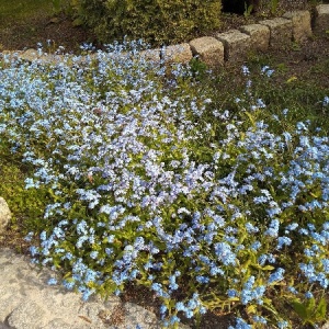
<svg viewBox="0 0 329 329">
<path fill-rule="evenodd" d="M 290 10 L 310 10 L 314 11 L 317 0 L 279 0 L 275 12 L 271 12 L 270 0 L 263 1 L 254 14 L 238 15 L 231 13 L 222 14 L 222 26 L 214 33 L 224 32 L 240 25 L 254 23 L 263 19 L 280 16 Z M 274 0 L 273 0 L 274 2 Z M 1 50 L 22 50 L 35 48 L 37 43 L 47 45 L 52 41 L 52 48 L 64 46 L 67 52 L 78 52 L 79 46 L 87 42 L 97 43 L 95 35 L 88 29 L 75 26 L 72 20 L 66 14 L 54 15 L 48 11 L 41 11 L 37 14 L 22 19 L 20 21 L 5 20 L 8 24 L 0 29 L 0 52 Z"/>
</svg>

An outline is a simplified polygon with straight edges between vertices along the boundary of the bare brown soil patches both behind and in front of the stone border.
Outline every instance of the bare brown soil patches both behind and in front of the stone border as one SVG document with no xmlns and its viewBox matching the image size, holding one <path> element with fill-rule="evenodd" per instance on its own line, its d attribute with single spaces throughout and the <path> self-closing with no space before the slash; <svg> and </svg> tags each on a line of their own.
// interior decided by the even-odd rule
<svg viewBox="0 0 329 329">
<path fill-rule="evenodd" d="M 222 26 L 211 35 L 225 32 L 238 26 L 252 24 L 264 19 L 280 16 L 291 10 L 309 10 L 313 14 L 317 0 L 279 0 L 275 13 L 271 13 L 269 3 L 263 1 L 254 14 L 238 15 L 232 13 L 222 14 Z M 1 50 L 23 50 L 36 48 L 37 43 L 43 44 L 48 53 L 55 52 L 58 46 L 64 46 L 67 53 L 78 53 L 80 45 L 91 43 L 95 48 L 102 48 L 97 42 L 95 35 L 88 29 L 75 26 L 72 20 L 65 14 L 54 16 L 52 13 L 38 13 L 30 20 L 11 22 L 4 29 L 0 29 L 0 52 Z M 275 57 L 277 63 L 284 64 L 291 75 L 303 77 L 309 73 L 309 69 L 324 78 L 324 83 L 329 83 L 327 77 L 321 77 L 321 71 L 317 71 L 317 63 L 328 59 L 329 34 L 321 37 L 315 36 L 303 44 L 292 44 L 291 48 L 269 49 L 266 56 Z"/>
</svg>

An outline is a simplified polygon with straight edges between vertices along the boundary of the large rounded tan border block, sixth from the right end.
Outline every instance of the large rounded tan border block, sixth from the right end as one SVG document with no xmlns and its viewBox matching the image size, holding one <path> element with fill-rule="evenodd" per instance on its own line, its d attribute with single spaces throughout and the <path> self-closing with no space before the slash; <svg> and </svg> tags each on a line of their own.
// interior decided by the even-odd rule
<svg viewBox="0 0 329 329">
<path fill-rule="evenodd" d="M 193 55 L 197 55 L 209 67 L 218 67 L 224 64 L 224 45 L 212 36 L 194 38 L 190 42 Z"/>
</svg>

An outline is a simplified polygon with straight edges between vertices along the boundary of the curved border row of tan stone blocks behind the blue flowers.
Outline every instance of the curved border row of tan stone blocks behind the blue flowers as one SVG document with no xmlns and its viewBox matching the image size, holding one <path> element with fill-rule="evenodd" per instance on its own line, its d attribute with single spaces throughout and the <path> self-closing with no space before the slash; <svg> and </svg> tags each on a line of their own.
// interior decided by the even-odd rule
<svg viewBox="0 0 329 329">
<path fill-rule="evenodd" d="M 166 58 L 182 64 L 189 63 L 193 57 L 198 57 L 211 68 L 216 68 L 226 61 L 243 59 L 250 50 L 265 52 L 270 47 L 280 49 L 292 42 L 304 42 L 311 37 L 313 33 L 325 35 L 328 31 L 329 4 L 319 4 L 313 18 L 308 10 L 291 11 L 282 18 L 242 25 L 237 30 L 218 33 L 214 37 L 203 36 L 190 43 L 170 45 L 163 49 L 149 49 L 141 52 L 141 55 L 155 61 Z M 44 63 L 56 63 L 61 58 L 60 55 L 39 55 L 35 49 L 16 52 L 16 56 L 29 61 L 38 59 Z"/>
</svg>

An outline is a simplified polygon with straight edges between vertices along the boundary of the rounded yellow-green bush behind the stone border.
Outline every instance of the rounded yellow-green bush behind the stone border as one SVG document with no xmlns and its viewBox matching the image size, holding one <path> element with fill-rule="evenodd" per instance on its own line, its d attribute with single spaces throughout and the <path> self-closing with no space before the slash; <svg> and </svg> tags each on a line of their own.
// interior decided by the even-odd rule
<svg viewBox="0 0 329 329">
<path fill-rule="evenodd" d="M 152 45 L 188 41 L 219 26 L 220 0 L 79 0 L 77 16 L 102 43 L 144 38 Z"/>
</svg>

